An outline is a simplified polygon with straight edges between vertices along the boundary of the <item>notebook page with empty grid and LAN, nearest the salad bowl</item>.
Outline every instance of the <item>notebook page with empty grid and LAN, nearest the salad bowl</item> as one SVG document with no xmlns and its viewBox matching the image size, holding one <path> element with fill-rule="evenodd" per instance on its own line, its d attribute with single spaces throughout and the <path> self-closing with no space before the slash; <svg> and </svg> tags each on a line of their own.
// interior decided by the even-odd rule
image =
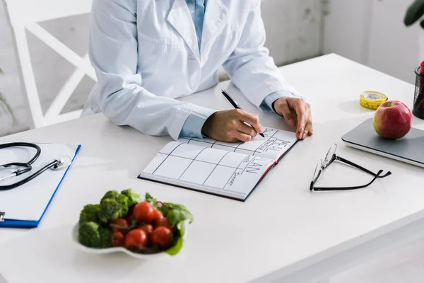
<svg viewBox="0 0 424 283">
<path fill-rule="evenodd" d="M 171 141 L 139 178 L 245 199 L 273 160 Z"/>
</svg>

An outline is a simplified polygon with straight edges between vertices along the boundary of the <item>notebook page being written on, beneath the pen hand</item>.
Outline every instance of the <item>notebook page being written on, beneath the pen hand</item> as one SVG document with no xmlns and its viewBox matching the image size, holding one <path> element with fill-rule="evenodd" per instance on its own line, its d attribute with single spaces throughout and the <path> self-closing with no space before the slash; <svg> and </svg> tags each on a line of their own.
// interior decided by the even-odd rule
<svg viewBox="0 0 424 283">
<path fill-rule="evenodd" d="M 207 146 L 213 149 L 222 149 L 225 151 L 237 152 L 253 156 L 262 156 L 277 161 L 285 151 L 291 148 L 298 140 L 294 132 L 288 132 L 281 129 L 264 127 L 264 136 L 259 134 L 249 142 L 226 143 L 214 139 L 197 139 L 181 137 L 179 142 L 186 144 L 195 144 Z"/>
</svg>

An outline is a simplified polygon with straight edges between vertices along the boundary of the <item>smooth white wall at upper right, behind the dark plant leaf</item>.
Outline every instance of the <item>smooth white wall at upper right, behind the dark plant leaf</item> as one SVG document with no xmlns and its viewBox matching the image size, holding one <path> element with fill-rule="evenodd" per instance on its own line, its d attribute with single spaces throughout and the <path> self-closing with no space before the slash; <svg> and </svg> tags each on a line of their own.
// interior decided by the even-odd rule
<svg viewBox="0 0 424 283">
<path fill-rule="evenodd" d="M 415 82 L 418 25 L 403 23 L 412 0 L 331 0 L 324 53 L 335 52 L 391 76 Z"/>
</svg>

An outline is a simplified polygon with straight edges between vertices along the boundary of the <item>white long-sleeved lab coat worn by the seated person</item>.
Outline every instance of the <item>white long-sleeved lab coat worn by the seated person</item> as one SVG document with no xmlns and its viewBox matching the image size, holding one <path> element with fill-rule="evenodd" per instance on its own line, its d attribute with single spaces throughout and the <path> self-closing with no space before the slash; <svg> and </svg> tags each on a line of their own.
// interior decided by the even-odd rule
<svg viewBox="0 0 424 283">
<path fill-rule="evenodd" d="M 90 60 L 98 82 L 83 115 L 173 139 L 191 112 L 176 98 L 218 83 L 222 65 L 254 105 L 275 91 L 299 96 L 264 47 L 260 0 L 208 0 L 199 51 L 185 0 L 93 0 Z"/>
</svg>

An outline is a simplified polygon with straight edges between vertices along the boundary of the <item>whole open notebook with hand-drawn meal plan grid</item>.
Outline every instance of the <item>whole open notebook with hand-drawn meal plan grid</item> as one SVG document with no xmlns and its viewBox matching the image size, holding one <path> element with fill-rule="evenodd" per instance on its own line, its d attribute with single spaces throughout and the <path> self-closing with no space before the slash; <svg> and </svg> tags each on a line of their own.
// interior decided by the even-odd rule
<svg viewBox="0 0 424 283">
<path fill-rule="evenodd" d="M 280 129 L 264 128 L 264 136 L 247 143 L 196 138 L 171 141 L 139 178 L 244 201 L 298 141 L 295 133 Z"/>
</svg>

